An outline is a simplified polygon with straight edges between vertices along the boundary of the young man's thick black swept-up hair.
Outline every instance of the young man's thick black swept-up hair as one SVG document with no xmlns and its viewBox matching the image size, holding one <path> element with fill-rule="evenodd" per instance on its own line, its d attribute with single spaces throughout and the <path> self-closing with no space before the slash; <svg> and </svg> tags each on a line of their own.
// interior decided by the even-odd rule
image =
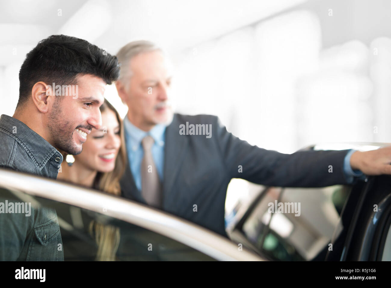
<svg viewBox="0 0 391 288">
<path fill-rule="evenodd" d="M 35 83 L 74 85 L 79 74 L 91 74 L 111 84 L 120 74 L 118 59 L 86 40 L 66 35 L 49 36 L 27 54 L 20 68 L 17 106 L 27 101 Z"/>
</svg>

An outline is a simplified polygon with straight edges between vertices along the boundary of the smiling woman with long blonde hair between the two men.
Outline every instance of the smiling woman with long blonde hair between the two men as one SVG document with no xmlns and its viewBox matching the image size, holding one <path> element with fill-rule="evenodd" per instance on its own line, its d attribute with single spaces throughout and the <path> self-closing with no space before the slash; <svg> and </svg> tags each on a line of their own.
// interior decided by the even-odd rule
<svg viewBox="0 0 391 288">
<path fill-rule="evenodd" d="M 102 129 L 91 130 L 80 154 L 73 157 L 63 155 L 67 164 L 62 165 L 57 179 L 120 195 L 119 181 L 127 163 L 122 121 L 106 99 L 100 112 Z M 88 230 L 97 243 L 96 260 L 115 260 L 120 241 L 119 228 L 91 221 Z"/>
</svg>

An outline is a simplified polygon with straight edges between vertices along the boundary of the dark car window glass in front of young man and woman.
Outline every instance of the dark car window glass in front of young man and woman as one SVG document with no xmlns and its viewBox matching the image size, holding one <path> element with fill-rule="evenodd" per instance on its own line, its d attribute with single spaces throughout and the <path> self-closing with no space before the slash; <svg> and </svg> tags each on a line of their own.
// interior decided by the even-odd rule
<svg viewBox="0 0 391 288">
<path fill-rule="evenodd" d="M 33 260 L 214 260 L 178 241 L 103 213 L 21 192 L 0 189 L 0 203 L 26 202 L 25 200 L 32 203 L 31 210 L 35 215 L 40 211 L 41 214 L 50 216 L 50 221 L 47 221 L 50 225 L 34 223 L 33 217 L 29 218 L 21 213 L 1 213 L 0 260 L 26 260 L 25 256 L 29 250 L 29 247 L 25 247 L 27 238 L 34 240 L 35 250 L 40 248 L 36 250 L 38 253 Z M 50 212 L 55 214 L 50 214 Z M 18 228 L 22 221 L 27 223 L 21 226 L 26 228 L 24 230 Z M 4 223 L 7 225 L 3 225 Z M 33 228 L 35 232 L 29 234 L 30 228 Z M 61 244 L 61 247 L 58 244 Z M 45 249 L 47 247 L 48 249 Z M 9 253 L 9 251 L 14 252 Z"/>
</svg>

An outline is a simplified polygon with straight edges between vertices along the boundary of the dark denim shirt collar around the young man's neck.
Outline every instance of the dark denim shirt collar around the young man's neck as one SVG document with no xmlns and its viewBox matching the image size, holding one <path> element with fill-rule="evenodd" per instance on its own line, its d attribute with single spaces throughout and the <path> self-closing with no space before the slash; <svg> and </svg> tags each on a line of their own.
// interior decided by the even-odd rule
<svg viewBox="0 0 391 288">
<path fill-rule="evenodd" d="M 42 169 L 50 158 L 57 159 L 58 164 L 63 162 L 63 155 L 56 148 L 18 119 L 1 115 L 0 129 L 23 146 L 38 169 Z"/>
</svg>

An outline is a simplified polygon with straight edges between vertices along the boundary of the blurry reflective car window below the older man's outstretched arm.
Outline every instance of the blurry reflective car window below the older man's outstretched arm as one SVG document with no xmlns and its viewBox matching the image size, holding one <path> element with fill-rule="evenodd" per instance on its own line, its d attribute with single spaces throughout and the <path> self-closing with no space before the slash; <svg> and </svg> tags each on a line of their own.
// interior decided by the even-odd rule
<svg viewBox="0 0 391 288">
<path fill-rule="evenodd" d="M 325 259 L 349 193 L 350 187 L 343 185 L 271 187 L 244 222 L 242 233 L 260 253 L 273 260 Z M 279 203 L 292 211 L 272 211 L 271 207 Z"/>
</svg>

